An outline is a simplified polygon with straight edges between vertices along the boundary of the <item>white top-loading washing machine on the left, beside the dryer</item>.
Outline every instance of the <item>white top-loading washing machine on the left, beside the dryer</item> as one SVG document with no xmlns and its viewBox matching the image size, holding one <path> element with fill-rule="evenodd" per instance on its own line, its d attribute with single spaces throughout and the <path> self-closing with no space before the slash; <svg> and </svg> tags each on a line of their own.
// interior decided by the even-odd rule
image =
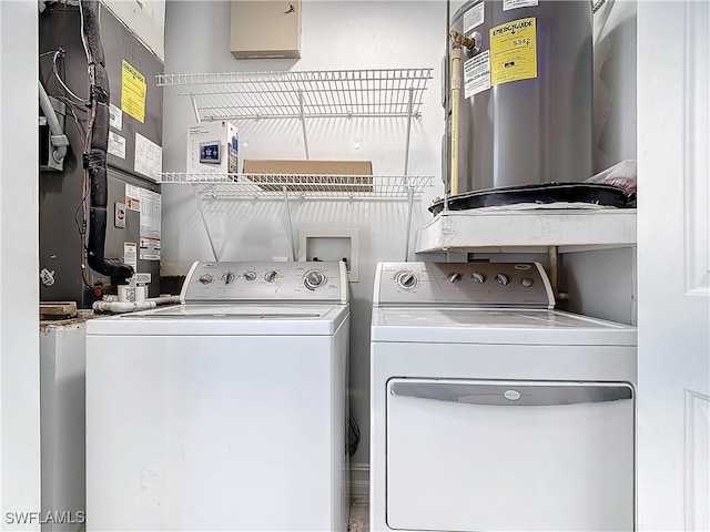
<svg viewBox="0 0 710 532">
<path fill-rule="evenodd" d="M 89 321 L 87 529 L 346 531 L 342 263 L 195 263 Z"/>
</svg>

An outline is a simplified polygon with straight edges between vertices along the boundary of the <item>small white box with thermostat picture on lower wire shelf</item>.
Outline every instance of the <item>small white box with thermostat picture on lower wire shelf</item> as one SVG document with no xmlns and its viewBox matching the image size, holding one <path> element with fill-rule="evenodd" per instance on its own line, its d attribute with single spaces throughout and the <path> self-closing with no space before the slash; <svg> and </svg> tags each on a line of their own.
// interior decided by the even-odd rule
<svg viewBox="0 0 710 532">
<path fill-rule="evenodd" d="M 202 122 L 187 127 L 186 173 L 239 172 L 239 134 L 225 120 Z"/>
</svg>

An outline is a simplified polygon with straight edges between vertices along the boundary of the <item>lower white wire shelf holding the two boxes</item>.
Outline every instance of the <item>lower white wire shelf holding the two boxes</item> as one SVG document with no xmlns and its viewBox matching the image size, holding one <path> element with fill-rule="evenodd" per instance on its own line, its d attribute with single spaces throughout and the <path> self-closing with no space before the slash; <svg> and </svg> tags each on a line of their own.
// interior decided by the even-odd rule
<svg viewBox="0 0 710 532">
<path fill-rule="evenodd" d="M 161 184 L 192 185 L 203 197 L 408 198 L 420 197 L 434 177 L 424 175 L 190 174 L 165 172 Z"/>
</svg>

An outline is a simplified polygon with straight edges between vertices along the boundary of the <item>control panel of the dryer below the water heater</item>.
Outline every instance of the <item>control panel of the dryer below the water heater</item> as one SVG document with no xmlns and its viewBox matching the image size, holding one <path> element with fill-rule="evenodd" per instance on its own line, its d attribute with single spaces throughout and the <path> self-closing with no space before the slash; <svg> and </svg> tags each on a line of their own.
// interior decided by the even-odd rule
<svg viewBox="0 0 710 532">
<path fill-rule="evenodd" d="M 373 305 L 554 308 L 555 296 L 539 263 L 379 263 Z"/>
</svg>

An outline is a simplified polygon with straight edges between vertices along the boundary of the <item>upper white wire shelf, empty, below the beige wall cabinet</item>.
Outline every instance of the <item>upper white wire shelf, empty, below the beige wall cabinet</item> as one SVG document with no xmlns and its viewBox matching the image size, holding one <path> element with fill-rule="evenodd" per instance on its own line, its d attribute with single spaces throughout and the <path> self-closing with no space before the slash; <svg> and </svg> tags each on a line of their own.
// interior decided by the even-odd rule
<svg viewBox="0 0 710 532">
<path fill-rule="evenodd" d="M 200 120 L 420 116 L 433 69 L 159 74 Z"/>
</svg>

